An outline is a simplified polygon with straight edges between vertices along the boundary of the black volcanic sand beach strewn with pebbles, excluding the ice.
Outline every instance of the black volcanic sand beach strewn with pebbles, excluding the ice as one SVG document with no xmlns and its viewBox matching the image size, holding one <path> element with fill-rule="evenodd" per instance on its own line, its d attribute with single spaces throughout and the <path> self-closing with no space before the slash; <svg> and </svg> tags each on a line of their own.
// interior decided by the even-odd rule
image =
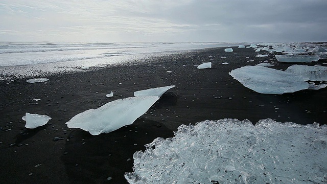
<svg viewBox="0 0 327 184">
<path fill-rule="evenodd" d="M 49 78 L 46 84 L 31 84 L 26 79 L 0 82 L 0 182 L 127 183 L 124 173 L 133 171 L 133 153 L 145 150 L 144 145 L 158 136 L 174 136 L 173 131 L 181 124 L 224 118 L 253 123 L 266 118 L 298 124 L 327 123 L 327 88 L 284 95 L 256 93 L 228 72 L 265 59 L 276 64 L 273 68 L 283 70 L 291 64 L 278 63 L 272 54 L 254 57 L 258 53 L 252 48 L 233 50 L 206 49 L 147 58 L 137 65 L 40 76 Z M 212 68 L 199 70 L 194 66 L 210 61 Z M 309 65 L 322 63 L 326 60 Z M 132 125 L 97 136 L 65 125 L 84 110 L 132 97 L 136 90 L 167 85 L 176 87 Z M 106 98 L 110 91 L 114 97 Z M 52 120 L 26 129 L 21 120 L 26 112 L 46 114 Z"/>
</svg>

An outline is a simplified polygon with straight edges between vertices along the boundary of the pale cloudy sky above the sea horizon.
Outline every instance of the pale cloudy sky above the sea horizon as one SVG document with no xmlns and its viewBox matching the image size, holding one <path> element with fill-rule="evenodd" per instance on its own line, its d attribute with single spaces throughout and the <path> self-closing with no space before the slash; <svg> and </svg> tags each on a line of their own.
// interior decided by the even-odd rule
<svg viewBox="0 0 327 184">
<path fill-rule="evenodd" d="M 327 41 L 326 0 L 1 0 L 0 41 Z"/>
</svg>

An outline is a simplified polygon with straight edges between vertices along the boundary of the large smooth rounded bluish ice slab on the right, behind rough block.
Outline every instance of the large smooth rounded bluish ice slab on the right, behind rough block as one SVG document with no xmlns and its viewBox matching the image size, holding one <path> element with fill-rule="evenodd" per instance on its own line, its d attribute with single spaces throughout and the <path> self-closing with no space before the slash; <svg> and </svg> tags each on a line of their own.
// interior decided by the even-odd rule
<svg viewBox="0 0 327 184">
<path fill-rule="evenodd" d="M 263 66 L 243 66 L 229 72 L 234 79 L 261 94 L 284 94 L 308 89 L 309 84 L 296 74 Z"/>
</svg>

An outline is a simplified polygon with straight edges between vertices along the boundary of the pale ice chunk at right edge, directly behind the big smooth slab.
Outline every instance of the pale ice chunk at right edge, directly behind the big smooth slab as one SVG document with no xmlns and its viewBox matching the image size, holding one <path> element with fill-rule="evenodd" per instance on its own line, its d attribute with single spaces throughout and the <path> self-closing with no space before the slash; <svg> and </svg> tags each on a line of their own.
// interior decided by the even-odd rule
<svg viewBox="0 0 327 184">
<path fill-rule="evenodd" d="M 327 66 L 292 65 L 285 72 L 296 74 L 303 81 L 327 81 Z"/>
</svg>

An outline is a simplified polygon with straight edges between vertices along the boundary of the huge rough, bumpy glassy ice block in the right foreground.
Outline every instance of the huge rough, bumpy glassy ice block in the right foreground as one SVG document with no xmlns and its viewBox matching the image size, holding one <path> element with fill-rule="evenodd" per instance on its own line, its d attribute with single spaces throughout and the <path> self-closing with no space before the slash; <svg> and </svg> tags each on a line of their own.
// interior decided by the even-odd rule
<svg viewBox="0 0 327 184">
<path fill-rule="evenodd" d="M 271 119 L 181 125 L 133 155 L 129 183 L 327 183 L 327 126 Z M 291 139 L 290 139 L 291 137 Z"/>
</svg>

